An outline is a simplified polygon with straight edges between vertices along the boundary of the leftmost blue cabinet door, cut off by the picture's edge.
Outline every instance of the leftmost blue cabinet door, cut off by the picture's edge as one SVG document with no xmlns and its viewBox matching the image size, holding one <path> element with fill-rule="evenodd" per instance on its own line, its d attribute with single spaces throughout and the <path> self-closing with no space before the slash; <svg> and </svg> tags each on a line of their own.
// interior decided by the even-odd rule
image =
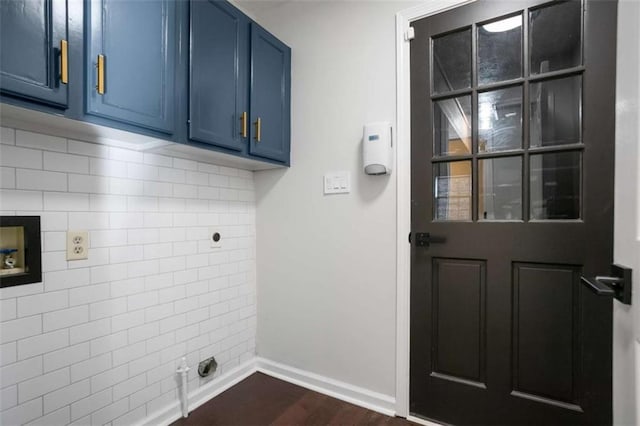
<svg viewBox="0 0 640 426">
<path fill-rule="evenodd" d="M 66 107 L 66 42 L 66 0 L 0 0 L 0 91 Z"/>
</svg>

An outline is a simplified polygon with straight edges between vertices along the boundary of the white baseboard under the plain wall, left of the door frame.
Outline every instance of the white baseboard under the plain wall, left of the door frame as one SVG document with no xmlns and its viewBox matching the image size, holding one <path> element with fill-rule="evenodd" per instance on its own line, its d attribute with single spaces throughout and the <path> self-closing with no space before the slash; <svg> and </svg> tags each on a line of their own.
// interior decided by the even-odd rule
<svg viewBox="0 0 640 426">
<path fill-rule="evenodd" d="M 289 383 L 341 399 L 387 416 L 395 416 L 394 397 L 330 379 L 319 374 L 299 370 L 265 358 L 256 359 L 257 371 Z"/>
</svg>

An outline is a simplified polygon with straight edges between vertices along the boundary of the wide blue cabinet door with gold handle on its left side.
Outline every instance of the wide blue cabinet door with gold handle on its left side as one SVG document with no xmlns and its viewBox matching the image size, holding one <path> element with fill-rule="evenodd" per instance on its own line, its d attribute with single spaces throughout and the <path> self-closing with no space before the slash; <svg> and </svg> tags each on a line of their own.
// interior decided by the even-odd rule
<svg viewBox="0 0 640 426">
<path fill-rule="evenodd" d="M 88 0 L 85 13 L 87 114 L 173 133 L 175 1 Z"/>
</svg>

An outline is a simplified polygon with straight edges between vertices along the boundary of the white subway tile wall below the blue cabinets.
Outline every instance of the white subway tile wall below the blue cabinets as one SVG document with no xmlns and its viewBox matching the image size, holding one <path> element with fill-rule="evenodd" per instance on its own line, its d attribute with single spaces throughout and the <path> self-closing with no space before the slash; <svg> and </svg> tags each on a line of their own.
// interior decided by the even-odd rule
<svg viewBox="0 0 640 426">
<path fill-rule="evenodd" d="M 10 128 L 0 142 L 0 211 L 43 231 L 43 283 L 0 289 L 0 424 L 134 424 L 177 401 L 182 356 L 215 356 L 217 375 L 254 356 L 253 173 Z M 82 229 L 89 259 L 67 262 Z"/>
</svg>

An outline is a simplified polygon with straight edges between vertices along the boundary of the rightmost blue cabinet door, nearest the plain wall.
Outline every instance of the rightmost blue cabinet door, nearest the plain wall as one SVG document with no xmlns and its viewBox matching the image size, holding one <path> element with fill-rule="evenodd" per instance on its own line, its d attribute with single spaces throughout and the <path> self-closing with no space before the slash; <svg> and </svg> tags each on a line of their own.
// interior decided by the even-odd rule
<svg viewBox="0 0 640 426">
<path fill-rule="evenodd" d="M 291 49 L 251 24 L 251 139 L 249 153 L 289 163 Z"/>
</svg>

